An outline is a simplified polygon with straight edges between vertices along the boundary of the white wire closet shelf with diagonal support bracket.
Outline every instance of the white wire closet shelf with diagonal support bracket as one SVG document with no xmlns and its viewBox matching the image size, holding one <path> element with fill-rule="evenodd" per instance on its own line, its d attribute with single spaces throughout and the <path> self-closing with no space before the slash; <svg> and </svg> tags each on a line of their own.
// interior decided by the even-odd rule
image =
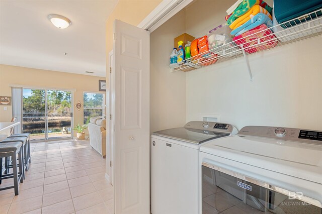
<svg viewBox="0 0 322 214">
<path fill-rule="evenodd" d="M 241 56 L 244 56 L 247 61 L 248 54 L 258 53 L 319 35 L 322 35 L 322 9 L 183 60 L 178 67 L 170 68 L 170 71 L 192 71 Z M 248 61 L 247 66 L 252 79 Z"/>
</svg>

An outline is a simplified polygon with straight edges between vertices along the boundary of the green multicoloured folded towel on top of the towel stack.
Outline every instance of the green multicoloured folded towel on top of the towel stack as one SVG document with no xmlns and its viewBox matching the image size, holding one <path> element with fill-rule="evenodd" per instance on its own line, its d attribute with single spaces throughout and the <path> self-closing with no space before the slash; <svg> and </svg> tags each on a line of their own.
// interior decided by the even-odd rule
<svg viewBox="0 0 322 214">
<path fill-rule="evenodd" d="M 227 19 L 227 25 L 231 25 L 238 17 L 246 14 L 251 8 L 255 5 L 259 5 L 265 10 L 267 10 L 271 15 L 273 8 L 266 4 L 263 0 L 244 0 L 231 14 Z M 229 14 L 228 14 L 229 15 Z"/>
</svg>

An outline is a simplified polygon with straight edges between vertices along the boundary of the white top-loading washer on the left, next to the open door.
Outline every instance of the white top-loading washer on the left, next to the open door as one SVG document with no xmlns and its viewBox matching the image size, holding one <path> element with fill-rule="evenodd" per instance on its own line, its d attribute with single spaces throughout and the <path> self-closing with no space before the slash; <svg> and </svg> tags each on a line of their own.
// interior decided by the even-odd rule
<svg viewBox="0 0 322 214">
<path fill-rule="evenodd" d="M 192 121 L 154 132 L 150 145 L 152 214 L 199 212 L 199 148 L 237 130 L 230 124 Z"/>
</svg>

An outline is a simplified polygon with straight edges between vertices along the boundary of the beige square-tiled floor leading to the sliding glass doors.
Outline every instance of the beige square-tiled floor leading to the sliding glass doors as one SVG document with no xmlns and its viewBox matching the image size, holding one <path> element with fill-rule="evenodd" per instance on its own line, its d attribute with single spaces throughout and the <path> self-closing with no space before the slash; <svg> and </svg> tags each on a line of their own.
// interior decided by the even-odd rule
<svg viewBox="0 0 322 214">
<path fill-rule="evenodd" d="M 31 143 L 32 163 L 20 184 L 0 191 L 0 213 L 114 213 L 113 187 L 89 141 Z M 1 187 L 12 185 L 4 180 Z"/>
</svg>

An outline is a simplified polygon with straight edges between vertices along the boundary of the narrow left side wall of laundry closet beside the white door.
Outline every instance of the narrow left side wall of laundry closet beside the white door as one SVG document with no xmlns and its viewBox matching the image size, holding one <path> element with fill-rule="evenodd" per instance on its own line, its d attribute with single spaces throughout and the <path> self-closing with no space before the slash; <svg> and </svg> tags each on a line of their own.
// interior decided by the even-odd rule
<svg viewBox="0 0 322 214">
<path fill-rule="evenodd" d="M 150 132 L 183 127 L 186 122 L 186 75 L 170 73 L 174 38 L 185 32 L 181 11 L 150 35 Z"/>
</svg>

